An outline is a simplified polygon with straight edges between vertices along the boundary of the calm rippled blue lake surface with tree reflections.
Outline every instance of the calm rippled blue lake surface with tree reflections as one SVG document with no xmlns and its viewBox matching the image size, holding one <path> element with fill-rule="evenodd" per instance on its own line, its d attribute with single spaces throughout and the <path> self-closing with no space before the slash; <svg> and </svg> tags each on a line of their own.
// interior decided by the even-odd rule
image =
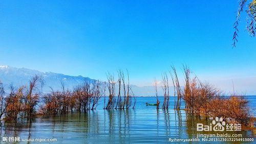
<svg viewBox="0 0 256 144">
<path fill-rule="evenodd" d="M 246 98 L 255 116 L 256 96 Z M 137 97 L 135 109 L 127 110 L 103 110 L 103 99 L 97 110 L 87 113 L 38 117 L 32 123 L 14 124 L 2 121 L 0 135 L 1 137 L 18 136 L 20 139 L 57 138 L 55 143 L 167 143 L 168 138 L 196 137 L 197 123 L 210 124 L 211 122 L 206 117 L 186 114 L 184 110 L 160 109 L 157 111 L 155 106 L 145 106 L 146 102 L 155 103 L 155 97 Z M 162 102 L 162 98 L 160 101 Z M 173 104 L 172 97 L 171 108 Z M 256 135 L 255 130 L 229 133 L 242 134 L 245 138 L 253 138 Z M 205 134 L 212 134 L 212 132 L 205 132 Z"/>
</svg>

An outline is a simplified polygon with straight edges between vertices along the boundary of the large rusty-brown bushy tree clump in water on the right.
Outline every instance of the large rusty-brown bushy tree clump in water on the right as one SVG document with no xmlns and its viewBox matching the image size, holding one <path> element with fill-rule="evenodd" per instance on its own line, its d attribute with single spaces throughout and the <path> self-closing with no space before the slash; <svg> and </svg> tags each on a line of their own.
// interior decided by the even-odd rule
<svg viewBox="0 0 256 144">
<path fill-rule="evenodd" d="M 191 114 L 223 117 L 228 123 L 251 126 L 248 101 L 244 97 L 224 95 L 209 83 L 202 83 L 197 77 L 190 78 L 190 70 L 183 66 L 184 89 L 180 90 L 186 110 Z M 175 77 L 174 79 L 176 79 Z M 176 92 L 178 93 L 177 80 Z"/>
</svg>

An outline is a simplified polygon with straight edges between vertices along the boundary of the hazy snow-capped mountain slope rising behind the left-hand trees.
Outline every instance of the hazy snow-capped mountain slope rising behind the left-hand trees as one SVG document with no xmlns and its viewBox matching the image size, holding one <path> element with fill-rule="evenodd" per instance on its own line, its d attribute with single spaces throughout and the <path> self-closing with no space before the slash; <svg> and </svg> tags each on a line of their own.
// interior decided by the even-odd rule
<svg viewBox="0 0 256 144">
<path fill-rule="evenodd" d="M 66 88 L 72 89 L 83 83 L 84 80 L 94 81 L 93 79 L 82 76 L 68 76 L 51 72 L 41 72 L 28 68 L 0 66 L 0 81 L 4 83 L 6 88 L 10 84 L 13 84 L 14 86 L 28 85 L 29 80 L 35 75 L 41 76 L 44 79 L 44 87 L 42 89 L 44 92 L 49 91 L 50 87 L 53 89 L 60 89 L 61 82 L 65 84 Z"/>
</svg>

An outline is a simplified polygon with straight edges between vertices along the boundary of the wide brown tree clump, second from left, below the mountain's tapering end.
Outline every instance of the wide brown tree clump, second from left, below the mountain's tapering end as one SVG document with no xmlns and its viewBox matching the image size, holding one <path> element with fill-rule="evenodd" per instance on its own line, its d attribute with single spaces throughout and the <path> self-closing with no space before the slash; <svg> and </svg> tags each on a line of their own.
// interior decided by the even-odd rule
<svg viewBox="0 0 256 144">
<path fill-rule="evenodd" d="M 86 112 L 94 110 L 103 96 L 103 83 L 100 81 L 84 81 L 73 90 L 65 89 L 61 83 L 62 90 L 51 90 L 42 98 L 40 113 L 42 114 L 65 114 L 70 111 Z"/>
</svg>

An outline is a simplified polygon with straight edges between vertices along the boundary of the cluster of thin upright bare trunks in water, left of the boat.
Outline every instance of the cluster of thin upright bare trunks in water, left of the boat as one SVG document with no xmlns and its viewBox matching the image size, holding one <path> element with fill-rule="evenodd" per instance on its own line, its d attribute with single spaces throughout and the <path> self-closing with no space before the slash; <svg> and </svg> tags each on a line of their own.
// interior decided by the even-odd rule
<svg viewBox="0 0 256 144">
<path fill-rule="evenodd" d="M 127 80 L 125 80 L 125 75 L 122 70 L 118 70 L 117 73 L 117 81 L 115 81 L 114 75 L 110 73 L 107 74 L 108 82 L 106 82 L 106 86 L 108 87 L 109 100 L 105 106 L 104 98 L 104 109 L 129 109 L 130 107 L 135 108 L 136 99 L 130 87 L 128 71 Z"/>
</svg>

